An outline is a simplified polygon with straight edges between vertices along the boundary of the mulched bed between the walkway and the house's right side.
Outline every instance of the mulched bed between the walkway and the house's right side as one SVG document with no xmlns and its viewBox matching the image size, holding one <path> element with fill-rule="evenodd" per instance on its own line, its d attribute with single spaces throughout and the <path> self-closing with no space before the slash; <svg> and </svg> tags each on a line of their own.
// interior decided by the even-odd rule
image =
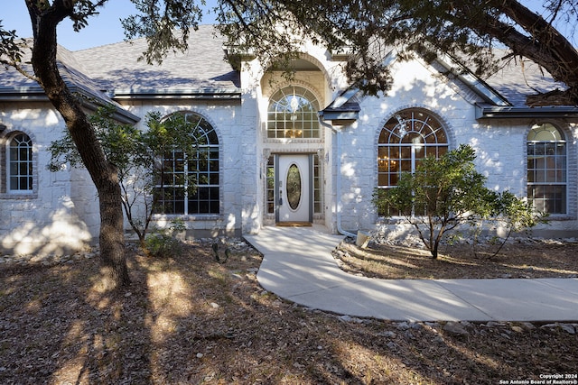
<svg viewBox="0 0 578 385">
<path fill-rule="evenodd" d="M 498 253 L 496 253 L 498 252 Z M 342 243 L 341 269 L 382 279 L 578 278 L 578 243 L 520 239 L 500 244 L 443 244 L 437 260 L 417 242 Z"/>
</svg>

